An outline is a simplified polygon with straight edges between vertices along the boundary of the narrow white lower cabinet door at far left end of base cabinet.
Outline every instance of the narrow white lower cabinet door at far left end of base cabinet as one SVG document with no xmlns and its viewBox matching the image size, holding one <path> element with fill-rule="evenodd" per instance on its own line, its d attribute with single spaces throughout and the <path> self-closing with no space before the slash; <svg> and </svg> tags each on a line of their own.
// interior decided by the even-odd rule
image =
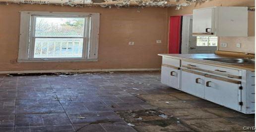
<svg viewBox="0 0 256 132">
<path fill-rule="evenodd" d="M 167 66 L 162 66 L 161 69 L 161 83 L 173 88 L 180 88 L 180 70 Z"/>
</svg>

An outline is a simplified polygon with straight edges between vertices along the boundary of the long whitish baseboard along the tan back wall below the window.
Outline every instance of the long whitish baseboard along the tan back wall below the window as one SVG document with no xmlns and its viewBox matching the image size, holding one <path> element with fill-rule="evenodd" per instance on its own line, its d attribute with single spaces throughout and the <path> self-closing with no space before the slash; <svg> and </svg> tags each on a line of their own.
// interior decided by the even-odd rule
<svg viewBox="0 0 256 132">
<path fill-rule="evenodd" d="M 58 70 L 5 70 L 0 74 L 10 73 L 57 73 L 57 72 L 93 72 L 93 71 L 146 71 L 160 70 L 160 68 L 125 68 L 125 69 L 58 69 Z"/>
</svg>

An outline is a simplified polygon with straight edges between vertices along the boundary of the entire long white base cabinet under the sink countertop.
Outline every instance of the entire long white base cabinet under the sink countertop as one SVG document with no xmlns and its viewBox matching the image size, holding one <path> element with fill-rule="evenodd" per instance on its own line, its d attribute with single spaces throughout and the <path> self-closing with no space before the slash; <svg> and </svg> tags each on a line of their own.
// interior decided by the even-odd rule
<svg viewBox="0 0 256 132">
<path fill-rule="evenodd" d="M 255 72 L 163 57 L 161 83 L 245 114 L 255 113 Z"/>
</svg>

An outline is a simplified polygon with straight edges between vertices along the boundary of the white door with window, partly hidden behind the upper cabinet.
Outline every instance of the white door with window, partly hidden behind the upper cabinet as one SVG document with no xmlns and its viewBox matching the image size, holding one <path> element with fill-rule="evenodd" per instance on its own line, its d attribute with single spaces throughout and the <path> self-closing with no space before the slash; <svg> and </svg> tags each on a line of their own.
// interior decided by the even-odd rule
<svg viewBox="0 0 256 132">
<path fill-rule="evenodd" d="M 210 54 L 217 50 L 218 37 L 192 36 L 192 15 L 183 16 L 182 19 L 182 54 Z"/>
</svg>

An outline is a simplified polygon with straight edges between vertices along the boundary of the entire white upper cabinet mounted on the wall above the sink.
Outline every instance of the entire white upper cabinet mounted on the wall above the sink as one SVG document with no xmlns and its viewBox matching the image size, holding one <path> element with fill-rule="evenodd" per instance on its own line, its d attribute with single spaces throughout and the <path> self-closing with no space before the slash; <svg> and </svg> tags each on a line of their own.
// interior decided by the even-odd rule
<svg viewBox="0 0 256 132">
<path fill-rule="evenodd" d="M 248 7 L 193 10 L 193 36 L 248 36 Z"/>
</svg>

